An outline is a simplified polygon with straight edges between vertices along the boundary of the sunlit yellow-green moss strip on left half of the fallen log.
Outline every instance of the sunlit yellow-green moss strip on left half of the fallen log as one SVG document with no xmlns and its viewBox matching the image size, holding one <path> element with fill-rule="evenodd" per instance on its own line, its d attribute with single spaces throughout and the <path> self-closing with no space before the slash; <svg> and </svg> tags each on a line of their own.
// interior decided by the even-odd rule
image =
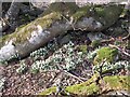
<svg viewBox="0 0 130 97">
<path fill-rule="evenodd" d="M 56 19 L 61 19 L 61 14 L 58 14 L 56 12 L 50 13 L 43 17 L 40 17 L 40 18 L 34 20 L 32 23 L 30 23 L 26 26 L 22 26 L 22 27 L 17 28 L 15 30 L 15 32 L 2 37 L 0 39 L 0 42 L 2 41 L 4 44 L 5 41 L 13 40 L 14 44 L 24 43 L 25 41 L 27 41 L 27 38 L 31 37 L 31 32 L 34 30 L 37 30 L 37 25 L 40 25 L 42 28 L 48 28 Z"/>
</svg>

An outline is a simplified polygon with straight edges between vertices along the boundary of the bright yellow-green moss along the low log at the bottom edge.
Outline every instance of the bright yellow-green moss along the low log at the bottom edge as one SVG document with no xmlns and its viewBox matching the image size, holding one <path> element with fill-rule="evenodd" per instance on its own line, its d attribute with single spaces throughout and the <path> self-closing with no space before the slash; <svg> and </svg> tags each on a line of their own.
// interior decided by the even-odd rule
<svg viewBox="0 0 130 97">
<path fill-rule="evenodd" d="M 94 74 L 90 80 L 83 82 L 81 84 L 76 84 L 72 86 L 67 86 L 66 92 L 75 95 L 98 95 L 102 94 L 102 89 L 105 92 L 109 91 L 129 91 L 130 87 L 130 77 L 128 75 L 112 75 L 104 77 L 103 80 L 100 80 L 100 83 L 104 83 L 105 87 L 100 87 L 100 85 L 95 84 L 98 74 Z M 55 92 L 55 87 L 51 87 L 46 89 L 40 95 L 49 95 Z"/>
</svg>

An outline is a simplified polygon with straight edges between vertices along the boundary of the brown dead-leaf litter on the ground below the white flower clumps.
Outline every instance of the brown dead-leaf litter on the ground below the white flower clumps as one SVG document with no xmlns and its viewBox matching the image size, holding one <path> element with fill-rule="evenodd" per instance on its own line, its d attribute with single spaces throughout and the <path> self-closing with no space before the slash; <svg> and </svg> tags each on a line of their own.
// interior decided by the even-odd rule
<svg viewBox="0 0 130 97">
<path fill-rule="evenodd" d="M 86 33 L 79 37 L 81 39 L 75 36 L 75 38 L 77 39 L 77 40 L 75 39 L 77 45 L 78 44 L 84 45 L 83 43 L 86 40 L 86 38 L 83 39 L 84 34 Z M 94 48 L 90 47 L 89 51 L 92 50 Z M 121 55 L 121 57 L 123 57 L 125 60 L 129 60 L 129 57 L 126 57 L 123 55 Z M 2 92 L 3 95 L 37 95 L 40 92 L 44 91 L 46 88 L 55 86 L 58 80 L 62 78 L 64 78 L 62 80 L 64 85 L 69 86 L 88 81 L 93 75 L 92 63 L 90 63 L 86 58 L 83 59 L 82 65 L 76 67 L 75 70 L 69 71 L 70 74 L 67 74 L 66 72 L 60 70 L 51 70 L 51 71 L 49 70 L 49 71 L 32 73 L 30 71 L 31 65 L 34 63 L 32 59 L 30 57 L 27 57 L 24 59 L 24 63 L 27 67 L 24 73 L 16 72 L 16 70 L 21 67 L 21 61 L 12 61 L 8 66 L 1 67 L 2 70 L 4 71 L 3 78 L 5 78 L 5 85 L 4 85 L 5 87 Z M 129 73 L 130 73 L 129 70 L 125 71 L 123 69 L 121 69 L 116 73 L 109 73 L 109 74 L 128 75 Z M 83 78 L 83 80 L 81 78 Z"/>
</svg>

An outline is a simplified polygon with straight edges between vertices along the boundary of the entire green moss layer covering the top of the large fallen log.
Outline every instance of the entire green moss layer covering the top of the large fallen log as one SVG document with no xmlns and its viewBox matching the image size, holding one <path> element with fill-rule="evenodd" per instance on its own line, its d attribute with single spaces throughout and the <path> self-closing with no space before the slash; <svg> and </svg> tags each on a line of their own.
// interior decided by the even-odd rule
<svg viewBox="0 0 130 97">
<path fill-rule="evenodd" d="M 61 20 L 64 17 L 73 17 L 75 22 L 80 19 L 82 16 L 94 17 L 96 20 L 103 23 L 106 27 L 112 25 L 117 20 L 122 11 L 121 5 L 84 5 L 78 8 L 74 2 L 56 2 L 52 3 L 50 8 L 46 11 L 42 17 L 34 20 L 32 23 L 17 28 L 12 34 L 5 36 L 0 39 L 0 43 L 5 43 L 13 39 L 14 44 L 24 43 L 27 38 L 30 38 L 31 32 L 37 30 L 37 25 L 42 26 L 43 28 L 50 27 L 53 22 Z M 64 16 L 64 17 L 63 17 Z M 113 17 L 113 18 L 112 18 Z"/>
</svg>

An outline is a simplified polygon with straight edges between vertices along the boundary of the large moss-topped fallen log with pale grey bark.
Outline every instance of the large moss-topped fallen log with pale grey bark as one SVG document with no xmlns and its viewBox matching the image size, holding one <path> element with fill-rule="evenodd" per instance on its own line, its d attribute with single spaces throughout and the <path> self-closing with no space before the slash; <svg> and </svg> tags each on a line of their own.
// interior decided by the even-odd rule
<svg viewBox="0 0 130 97">
<path fill-rule="evenodd" d="M 43 16 L 0 38 L 0 61 L 14 56 L 23 58 L 67 30 L 103 30 L 118 19 L 122 9 L 123 5 L 117 4 L 78 8 L 74 2 L 52 3 Z"/>
</svg>

